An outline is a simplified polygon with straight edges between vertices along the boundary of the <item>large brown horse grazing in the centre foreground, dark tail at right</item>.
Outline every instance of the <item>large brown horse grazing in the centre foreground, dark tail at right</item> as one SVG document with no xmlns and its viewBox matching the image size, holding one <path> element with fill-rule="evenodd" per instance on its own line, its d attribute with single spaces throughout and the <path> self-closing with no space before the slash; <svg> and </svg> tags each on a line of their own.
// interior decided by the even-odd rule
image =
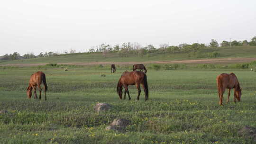
<svg viewBox="0 0 256 144">
<path fill-rule="evenodd" d="M 128 93 L 129 100 L 131 99 L 129 90 L 128 90 L 128 85 L 135 85 L 138 90 L 138 96 L 137 100 L 139 100 L 139 95 L 140 95 L 140 84 L 142 84 L 145 92 L 145 101 L 148 99 L 148 86 L 147 86 L 147 80 L 146 80 L 146 74 L 144 72 L 139 72 L 139 71 L 134 71 L 134 72 L 123 72 L 121 78 L 118 81 L 117 85 L 117 92 L 119 94 L 119 98 L 122 99 L 122 90 L 123 87 L 125 88 L 125 94 L 124 94 L 124 99 L 126 93 Z"/>
</svg>

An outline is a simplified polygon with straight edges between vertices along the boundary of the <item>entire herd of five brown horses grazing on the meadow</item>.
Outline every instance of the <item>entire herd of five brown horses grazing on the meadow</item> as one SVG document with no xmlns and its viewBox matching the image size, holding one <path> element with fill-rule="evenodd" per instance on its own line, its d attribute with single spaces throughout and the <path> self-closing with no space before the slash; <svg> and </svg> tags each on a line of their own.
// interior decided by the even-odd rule
<svg viewBox="0 0 256 144">
<path fill-rule="evenodd" d="M 139 69 L 140 71 L 137 71 Z M 142 71 L 142 72 L 141 72 Z M 144 71 L 144 72 L 143 72 Z M 116 72 L 115 64 L 111 64 L 111 73 Z M 147 78 L 146 78 L 146 68 L 143 64 L 134 64 L 133 65 L 133 72 L 125 71 L 122 73 L 118 84 L 117 84 L 117 93 L 119 98 L 122 99 L 122 90 L 125 89 L 124 99 L 126 99 L 126 93 L 128 94 L 129 100 L 131 99 L 128 86 L 129 85 L 136 85 L 138 90 L 137 99 L 139 100 L 140 96 L 140 84 L 142 84 L 144 92 L 145 92 L 145 101 L 148 99 L 148 85 L 147 85 Z M 228 73 L 221 73 L 217 76 L 217 87 L 218 87 L 218 94 L 219 94 L 219 105 L 223 106 L 223 94 L 226 89 L 229 89 L 227 103 L 229 102 L 230 90 L 234 89 L 234 102 L 236 103 L 236 99 L 238 101 L 241 100 L 242 95 L 242 88 L 238 82 L 237 76 L 231 72 Z M 45 100 L 46 100 L 46 75 L 44 72 L 36 72 L 31 75 L 28 88 L 27 88 L 27 99 L 30 99 L 32 96 L 32 89 L 34 90 L 34 99 L 37 99 L 37 87 L 39 89 L 40 95 L 39 99 L 41 99 L 41 84 L 44 84 L 45 88 Z"/>
</svg>

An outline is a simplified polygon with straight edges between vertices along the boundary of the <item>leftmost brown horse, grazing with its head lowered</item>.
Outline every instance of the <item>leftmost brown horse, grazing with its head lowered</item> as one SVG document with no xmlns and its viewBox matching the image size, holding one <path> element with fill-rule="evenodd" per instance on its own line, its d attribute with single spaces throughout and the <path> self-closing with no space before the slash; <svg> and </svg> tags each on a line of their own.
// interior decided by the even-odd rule
<svg viewBox="0 0 256 144">
<path fill-rule="evenodd" d="M 37 91 L 36 91 L 37 87 L 39 88 L 39 91 L 40 91 L 39 99 L 41 99 L 42 88 L 40 85 L 42 82 L 45 86 L 45 100 L 46 100 L 46 90 L 48 87 L 46 84 L 46 75 L 44 72 L 36 72 L 31 75 L 29 84 L 28 84 L 28 88 L 27 88 L 27 99 L 31 98 L 32 89 L 34 90 L 34 99 L 37 99 Z"/>
</svg>

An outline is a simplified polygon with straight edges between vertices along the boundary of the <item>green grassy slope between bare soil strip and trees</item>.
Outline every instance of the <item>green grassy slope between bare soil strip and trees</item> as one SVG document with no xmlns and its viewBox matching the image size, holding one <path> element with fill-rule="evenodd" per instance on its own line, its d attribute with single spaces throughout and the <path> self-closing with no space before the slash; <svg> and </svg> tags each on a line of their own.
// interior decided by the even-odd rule
<svg viewBox="0 0 256 144">
<path fill-rule="evenodd" d="M 220 54 L 218 58 L 230 57 L 255 57 L 256 46 L 234 46 L 234 47 L 219 47 L 209 48 L 201 51 L 201 54 L 217 52 Z M 191 57 L 188 53 L 164 53 L 164 54 L 146 54 L 139 57 L 136 54 L 129 54 L 128 57 L 119 57 L 117 53 L 107 54 L 105 58 L 102 54 L 67 54 L 63 56 L 42 57 L 34 59 L 24 59 L 15 61 L 0 61 L 0 64 L 8 63 L 85 63 L 85 62 L 145 62 L 145 61 L 174 61 L 174 60 L 190 60 L 190 59 L 205 59 L 207 57 Z"/>
</svg>

